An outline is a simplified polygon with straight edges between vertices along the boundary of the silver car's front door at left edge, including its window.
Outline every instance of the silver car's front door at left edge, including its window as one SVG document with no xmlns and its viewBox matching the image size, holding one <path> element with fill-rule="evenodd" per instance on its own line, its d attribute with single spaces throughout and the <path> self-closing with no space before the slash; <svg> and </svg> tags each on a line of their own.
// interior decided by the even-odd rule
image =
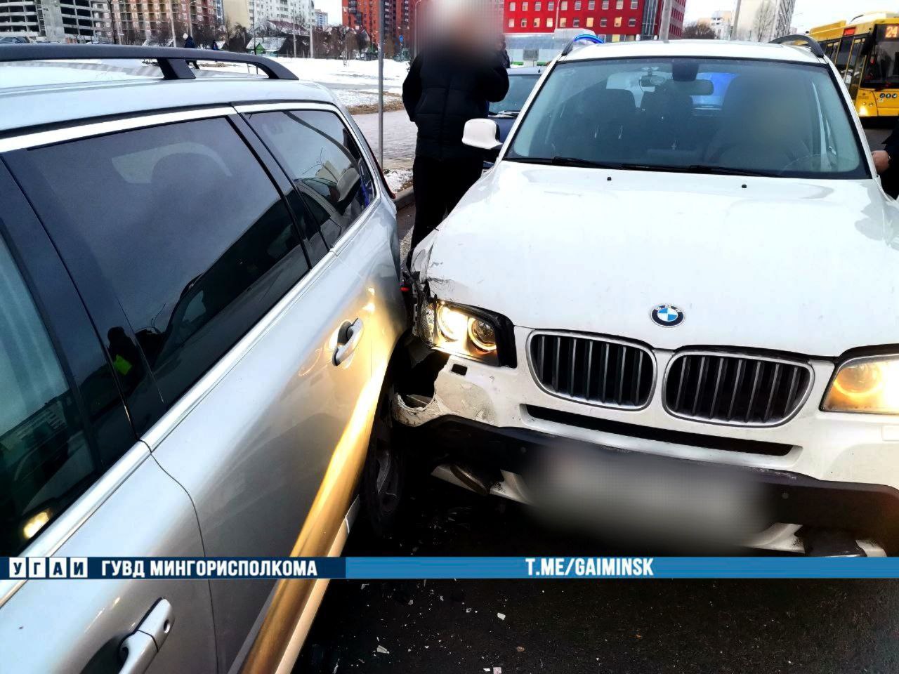
<svg viewBox="0 0 899 674">
<path fill-rule="evenodd" d="M 201 555 L 188 494 L 136 439 L 68 271 L 2 162 L 0 193 L 0 555 Z M 156 640 L 136 632 L 155 607 L 169 620 Z M 0 581 L 5 671 L 128 671 L 122 643 L 147 671 L 214 671 L 214 634 L 205 581 Z"/>
</svg>

